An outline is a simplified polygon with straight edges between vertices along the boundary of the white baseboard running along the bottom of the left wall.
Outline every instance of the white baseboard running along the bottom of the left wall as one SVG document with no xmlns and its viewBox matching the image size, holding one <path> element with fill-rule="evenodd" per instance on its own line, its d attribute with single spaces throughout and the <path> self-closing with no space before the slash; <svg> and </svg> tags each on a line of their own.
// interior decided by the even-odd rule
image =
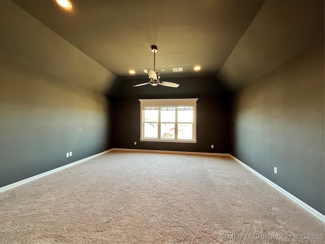
<svg viewBox="0 0 325 244">
<path fill-rule="evenodd" d="M 103 154 L 107 154 L 107 153 L 109 153 L 109 152 L 112 151 L 112 150 L 113 150 L 113 149 L 110 149 L 110 150 L 107 150 L 107 151 L 103 151 L 102 153 L 95 154 L 95 155 L 93 155 L 93 156 L 90 156 L 90 157 L 85 158 L 85 159 L 81 159 L 81 160 L 76 161 L 76 162 L 73 162 L 73 163 L 71 163 L 71 164 L 63 165 L 63 166 L 58 167 L 58 168 L 56 168 L 56 169 L 52 169 L 52 170 L 46 171 L 46 172 L 44 172 L 44 173 L 41 173 L 41 174 L 38 174 L 38 175 L 35 175 L 35 176 L 31 176 L 31 177 L 29 177 L 29 178 L 26 178 L 26 179 L 23 179 L 23 180 L 17 181 L 17 182 L 15 182 L 15 183 L 13 183 L 13 184 L 10 184 L 10 185 L 7 185 L 7 186 L 4 186 L 4 187 L 0 188 L 0 193 L 1 193 L 1 192 L 8 191 L 8 190 L 10 190 L 10 189 L 13 189 L 13 188 L 15 188 L 15 187 L 18 187 L 18 186 L 20 186 L 20 185 L 26 184 L 27 182 L 30 182 L 30 181 L 32 181 L 32 180 L 39 179 L 39 178 L 44 177 L 44 176 L 46 176 L 46 175 L 49 175 L 49 174 L 52 174 L 52 173 L 54 173 L 54 172 L 60 171 L 60 170 L 62 170 L 62 169 L 66 169 L 66 168 L 69 168 L 69 167 L 74 166 L 74 165 L 76 165 L 76 164 L 80 164 L 80 163 L 85 162 L 85 161 L 87 161 L 87 160 L 89 160 L 89 159 L 93 159 L 93 158 L 98 157 L 98 156 L 101 156 L 101 155 L 103 155 Z"/>
</svg>

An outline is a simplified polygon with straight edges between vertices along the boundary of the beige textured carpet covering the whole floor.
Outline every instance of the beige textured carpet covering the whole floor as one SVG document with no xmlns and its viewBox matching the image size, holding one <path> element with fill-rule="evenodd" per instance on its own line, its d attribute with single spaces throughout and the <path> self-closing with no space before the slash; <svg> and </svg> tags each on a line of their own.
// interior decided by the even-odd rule
<svg viewBox="0 0 325 244">
<path fill-rule="evenodd" d="M 113 151 L 1 193 L 0 209 L 0 243 L 325 242 L 229 157 Z"/>
</svg>

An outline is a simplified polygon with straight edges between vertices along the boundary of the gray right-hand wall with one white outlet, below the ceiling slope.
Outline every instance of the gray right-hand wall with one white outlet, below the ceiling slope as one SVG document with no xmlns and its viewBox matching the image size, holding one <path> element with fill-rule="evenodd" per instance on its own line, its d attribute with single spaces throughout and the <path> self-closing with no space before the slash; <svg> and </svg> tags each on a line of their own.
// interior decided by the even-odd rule
<svg viewBox="0 0 325 244">
<path fill-rule="evenodd" d="M 233 111 L 234 156 L 324 214 L 324 42 L 241 90 Z"/>
</svg>

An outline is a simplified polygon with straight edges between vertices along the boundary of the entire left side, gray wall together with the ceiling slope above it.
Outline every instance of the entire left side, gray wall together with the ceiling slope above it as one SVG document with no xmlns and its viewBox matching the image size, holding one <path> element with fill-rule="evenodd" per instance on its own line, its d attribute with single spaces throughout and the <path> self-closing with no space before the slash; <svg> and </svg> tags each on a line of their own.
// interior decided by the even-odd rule
<svg viewBox="0 0 325 244">
<path fill-rule="evenodd" d="M 9 0 L 0 23 L 0 187 L 112 148 L 115 75 Z"/>
</svg>

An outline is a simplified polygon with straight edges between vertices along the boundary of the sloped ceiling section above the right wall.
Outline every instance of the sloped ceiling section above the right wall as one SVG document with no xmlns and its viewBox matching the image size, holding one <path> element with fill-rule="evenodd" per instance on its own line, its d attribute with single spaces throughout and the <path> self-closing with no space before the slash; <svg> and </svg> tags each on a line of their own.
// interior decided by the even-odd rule
<svg viewBox="0 0 325 244">
<path fill-rule="evenodd" d="M 324 1 L 266 1 L 217 78 L 236 90 L 324 39 Z"/>
</svg>

